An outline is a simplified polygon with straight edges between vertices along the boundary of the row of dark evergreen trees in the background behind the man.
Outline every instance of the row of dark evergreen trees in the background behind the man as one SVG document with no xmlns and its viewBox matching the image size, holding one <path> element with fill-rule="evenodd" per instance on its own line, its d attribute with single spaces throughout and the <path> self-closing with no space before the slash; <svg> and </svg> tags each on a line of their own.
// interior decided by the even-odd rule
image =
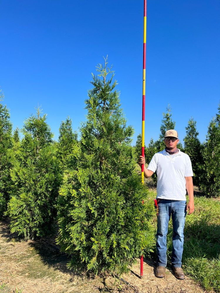
<svg viewBox="0 0 220 293">
<path fill-rule="evenodd" d="M 157 141 L 150 139 L 148 146 L 145 146 L 145 159 L 149 163 L 152 156 L 165 148 L 164 134 L 168 129 L 175 129 L 175 121 L 172 120 L 171 107 L 168 105 L 167 112 L 163 113 L 163 119 L 160 127 L 160 136 Z M 189 155 L 192 162 L 194 173 L 193 182 L 200 190 L 204 191 L 206 196 L 220 196 L 220 105 L 218 113 L 208 126 L 208 132 L 205 142 L 200 142 L 199 132 L 196 128 L 196 121 L 191 117 L 186 127 L 186 136 L 183 138 L 184 147 L 179 142 L 177 147 Z M 138 135 L 136 153 L 141 153 L 141 134 Z M 156 175 L 153 175 L 156 181 Z"/>
</svg>

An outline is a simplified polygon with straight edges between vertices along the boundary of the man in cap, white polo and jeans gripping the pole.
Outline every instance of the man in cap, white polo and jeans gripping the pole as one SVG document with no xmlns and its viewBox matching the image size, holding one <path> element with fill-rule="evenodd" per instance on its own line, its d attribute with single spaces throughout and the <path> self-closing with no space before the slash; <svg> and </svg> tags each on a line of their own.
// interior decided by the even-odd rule
<svg viewBox="0 0 220 293">
<path fill-rule="evenodd" d="M 194 197 L 192 183 L 192 165 L 189 156 L 179 149 L 178 133 L 176 130 L 167 130 L 164 136 L 165 149 L 156 153 L 148 167 L 145 159 L 140 156 L 139 165 L 144 164 L 144 176 L 149 178 L 157 171 L 157 202 L 158 222 L 156 234 L 157 268 L 156 277 L 165 277 L 167 265 L 167 231 L 170 216 L 173 224 L 172 258 L 171 264 L 177 279 L 185 279 L 182 265 L 183 229 L 185 217 L 194 212 Z M 186 188 L 189 202 L 186 204 Z"/>
</svg>

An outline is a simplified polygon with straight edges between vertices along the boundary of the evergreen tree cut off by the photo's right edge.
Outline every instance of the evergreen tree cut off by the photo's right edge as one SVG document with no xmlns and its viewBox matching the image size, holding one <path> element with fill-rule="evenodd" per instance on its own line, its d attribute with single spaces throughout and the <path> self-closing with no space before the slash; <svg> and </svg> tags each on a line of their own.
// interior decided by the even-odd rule
<svg viewBox="0 0 220 293">
<path fill-rule="evenodd" d="M 200 188 L 207 196 L 220 196 L 220 104 L 218 110 L 209 123 L 202 150 L 204 165 L 200 167 Z"/>
</svg>

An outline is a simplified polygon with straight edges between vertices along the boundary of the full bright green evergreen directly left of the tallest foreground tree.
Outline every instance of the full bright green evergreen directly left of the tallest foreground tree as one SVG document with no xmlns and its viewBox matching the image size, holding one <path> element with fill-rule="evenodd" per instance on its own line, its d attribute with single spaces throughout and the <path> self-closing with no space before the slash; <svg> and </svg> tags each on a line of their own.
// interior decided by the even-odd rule
<svg viewBox="0 0 220 293">
<path fill-rule="evenodd" d="M 7 214 L 11 232 L 25 239 L 51 234 L 56 216 L 55 198 L 60 185 L 53 134 L 46 115 L 31 115 L 25 122 L 21 143 L 15 149 L 11 178 L 11 200 Z"/>
</svg>

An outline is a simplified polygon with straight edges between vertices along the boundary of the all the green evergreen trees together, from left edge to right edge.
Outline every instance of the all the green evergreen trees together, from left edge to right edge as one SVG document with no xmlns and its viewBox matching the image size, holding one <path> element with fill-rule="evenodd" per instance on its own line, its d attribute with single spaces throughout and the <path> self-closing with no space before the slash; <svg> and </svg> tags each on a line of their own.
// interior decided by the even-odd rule
<svg viewBox="0 0 220 293">
<path fill-rule="evenodd" d="M 134 130 L 126 125 L 114 71 L 107 64 L 106 58 L 96 67 L 98 74 L 92 74 L 80 138 L 67 117 L 54 141 L 40 108 L 12 133 L 0 92 L 0 212 L 10 218 L 11 232 L 25 239 L 51 235 L 58 226 L 57 243 L 71 256 L 70 268 L 121 274 L 136 257 L 152 251 L 150 219 L 155 210 L 136 171 L 140 135 L 132 147 Z M 179 144 L 192 160 L 194 181 L 207 196 L 220 195 L 220 105 L 218 110 L 204 144 L 193 118 L 184 147 Z M 146 162 L 164 149 L 167 129 L 175 129 L 170 105 L 159 139 L 145 147 Z"/>
</svg>

